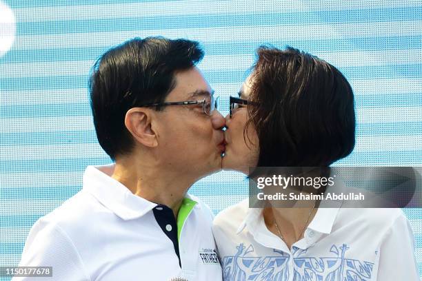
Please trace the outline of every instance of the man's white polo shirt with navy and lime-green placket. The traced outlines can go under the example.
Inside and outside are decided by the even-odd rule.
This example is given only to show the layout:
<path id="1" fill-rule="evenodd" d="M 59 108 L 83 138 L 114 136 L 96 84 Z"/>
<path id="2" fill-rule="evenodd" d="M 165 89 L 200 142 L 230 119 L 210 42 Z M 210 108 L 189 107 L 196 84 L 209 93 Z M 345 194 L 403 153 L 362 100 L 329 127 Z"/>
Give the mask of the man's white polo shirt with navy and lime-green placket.
<path id="1" fill-rule="evenodd" d="M 88 167 L 83 189 L 40 218 L 23 249 L 19 266 L 52 267 L 52 278 L 13 280 L 221 280 L 212 218 L 186 196 L 176 221 L 170 208 Z"/>

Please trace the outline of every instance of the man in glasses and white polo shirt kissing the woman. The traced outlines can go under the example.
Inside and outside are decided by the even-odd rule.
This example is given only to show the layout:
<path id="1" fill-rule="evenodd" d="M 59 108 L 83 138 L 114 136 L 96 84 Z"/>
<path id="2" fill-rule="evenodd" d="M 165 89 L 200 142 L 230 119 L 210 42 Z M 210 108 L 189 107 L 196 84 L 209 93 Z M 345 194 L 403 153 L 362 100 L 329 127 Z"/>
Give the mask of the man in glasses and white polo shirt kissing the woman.
<path id="1" fill-rule="evenodd" d="M 161 37 L 101 56 L 91 107 L 114 169 L 86 169 L 83 189 L 32 227 L 20 266 L 51 266 L 46 280 L 221 280 L 212 213 L 186 194 L 224 150 L 202 57 L 197 42 Z"/>

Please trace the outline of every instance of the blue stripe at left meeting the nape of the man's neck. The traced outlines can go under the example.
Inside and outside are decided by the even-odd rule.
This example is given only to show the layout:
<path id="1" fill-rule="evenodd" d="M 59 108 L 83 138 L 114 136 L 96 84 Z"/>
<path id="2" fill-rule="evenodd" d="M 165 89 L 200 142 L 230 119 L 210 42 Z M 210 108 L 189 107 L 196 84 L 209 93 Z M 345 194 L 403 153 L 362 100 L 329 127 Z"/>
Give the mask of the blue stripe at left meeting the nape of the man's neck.
<path id="1" fill-rule="evenodd" d="M 32 173 L 43 171 L 85 171 L 89 165 L 111 164 L 110 158 L 57 158 L 41 160 L 1 161 L 0 173 Z"/>

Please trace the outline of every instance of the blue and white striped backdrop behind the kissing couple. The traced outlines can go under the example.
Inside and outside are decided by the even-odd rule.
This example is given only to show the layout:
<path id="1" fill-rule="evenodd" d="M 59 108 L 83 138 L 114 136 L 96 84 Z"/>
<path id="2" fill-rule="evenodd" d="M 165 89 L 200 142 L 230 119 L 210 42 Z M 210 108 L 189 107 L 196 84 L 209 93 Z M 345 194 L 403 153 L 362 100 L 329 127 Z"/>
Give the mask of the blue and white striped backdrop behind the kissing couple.
<path id="1" fill-rule="evenodd" d="M 17 34 L 0 58 L 0 266 L 19 262 L 32 224 L 81 189 L 87 165 L 110 163 L 92 125 L 88 72 L 132 37 L 200 41 L 199 67 L 223 114 L 261 43 L 316 54 L 339 67 L 356 95 L 356 148 L 339 164 L 422 165 L 420 0 L 3 2 Z M 191 189 L 215 212 L 246 190 L 244 177 L 229 172 Z M 422 211 L 405 214 L 422 272 Z"/>

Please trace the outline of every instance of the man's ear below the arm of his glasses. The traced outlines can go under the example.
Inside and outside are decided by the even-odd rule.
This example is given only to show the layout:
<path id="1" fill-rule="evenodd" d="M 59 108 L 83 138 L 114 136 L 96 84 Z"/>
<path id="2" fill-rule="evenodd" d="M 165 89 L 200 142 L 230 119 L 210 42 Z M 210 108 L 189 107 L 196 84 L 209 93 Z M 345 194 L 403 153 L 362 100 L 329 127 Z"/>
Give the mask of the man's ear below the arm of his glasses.
<path id="1" fill-rule="evenodd" d="M 146 147 L 157 147 L 157 132 L 152 129 L 152 111 L 145 107 L 132 107 L 125 115 L 125 126 L 132 137 Z"/>

